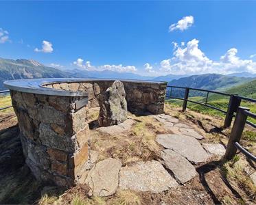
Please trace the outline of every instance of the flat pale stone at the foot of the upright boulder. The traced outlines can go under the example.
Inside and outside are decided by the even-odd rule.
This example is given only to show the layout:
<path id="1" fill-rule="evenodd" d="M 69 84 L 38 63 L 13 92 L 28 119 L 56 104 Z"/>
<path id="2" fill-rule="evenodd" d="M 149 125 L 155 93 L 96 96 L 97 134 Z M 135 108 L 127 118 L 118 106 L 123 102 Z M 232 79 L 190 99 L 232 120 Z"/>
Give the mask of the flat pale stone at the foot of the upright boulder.
<path id="1" fill-rule="evenodd" d="M 128 119 L 118 125 L 102 126 L 100 128 L 97 128 L 97 131 L 100 131 L 101 133 L 107 133 L 108 135 L 115 135 L 118 133 L 130 131 L 130 129 L 132 128 L 132 124 L 134 123 L 134 120 Z"/>

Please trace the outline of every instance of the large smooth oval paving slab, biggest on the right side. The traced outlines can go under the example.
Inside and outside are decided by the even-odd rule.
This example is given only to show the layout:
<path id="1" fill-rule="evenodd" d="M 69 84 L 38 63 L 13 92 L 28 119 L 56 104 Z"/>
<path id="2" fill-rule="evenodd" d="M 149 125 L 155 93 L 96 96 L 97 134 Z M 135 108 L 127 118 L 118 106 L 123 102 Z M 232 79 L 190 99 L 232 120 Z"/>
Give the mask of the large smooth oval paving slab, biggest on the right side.
<path id="1" fill-rule="evenodd" d="M 207 161 L 209 155 L 202 148 L 200 143 L 194 138 L 186 135 L 157 135 L 156 141 L 167 149 L 184 156 L 192 163 L 202 163 Z"/>

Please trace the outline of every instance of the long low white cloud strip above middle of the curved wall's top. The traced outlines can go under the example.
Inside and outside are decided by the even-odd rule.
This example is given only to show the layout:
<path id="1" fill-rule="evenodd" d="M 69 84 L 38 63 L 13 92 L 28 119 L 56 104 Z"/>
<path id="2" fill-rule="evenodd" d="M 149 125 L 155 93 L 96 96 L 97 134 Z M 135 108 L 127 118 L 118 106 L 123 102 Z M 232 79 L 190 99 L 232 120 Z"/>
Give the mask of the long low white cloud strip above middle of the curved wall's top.
<path id="1" fill-rule="evenodd" d="M 78 58 L 76 61 L 73 61 L 73 65 L 78 66 L 80 68 L 84 68 L 86 70 L 111 70 L 117 72 L 136 72 L 137 68 L 135 66 L 123 66 L 122 64 L 119 65 L 102 65 L 102 66 L 92 66 L 90 61 L 86 61 L 84 64 L 84 60 Z"/>

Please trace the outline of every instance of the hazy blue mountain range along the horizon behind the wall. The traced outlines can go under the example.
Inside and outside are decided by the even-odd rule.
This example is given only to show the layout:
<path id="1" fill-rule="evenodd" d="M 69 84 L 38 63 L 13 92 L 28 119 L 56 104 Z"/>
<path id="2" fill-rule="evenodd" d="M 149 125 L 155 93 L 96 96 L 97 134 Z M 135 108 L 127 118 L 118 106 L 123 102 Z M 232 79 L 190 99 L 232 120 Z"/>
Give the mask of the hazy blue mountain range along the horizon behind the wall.
<path id="1" fill-rule="evenodd" d="M 150 81 L 167 81 L 168 85 L 181 87 L 196 87 L 207 90 L 222 90 L 235 85 L 241 85 L 252 81 L 256 74 L 248 72 L 223 74 L 198 74 L 189 76 L 187 74 L 175 75 L 167 74 L 160 77 L 146 77 L 132 72 L 114 72 L 111 70 L 58 70 L 40 64 L 35 60 L 28 59 L 3 59 L 0 58 L 0 90 L 5 90 L 3 81 L 12 79 L 30 78 L 65 78 L 65 77 L 89 77 L 105 79 L 139 79 Z"/>

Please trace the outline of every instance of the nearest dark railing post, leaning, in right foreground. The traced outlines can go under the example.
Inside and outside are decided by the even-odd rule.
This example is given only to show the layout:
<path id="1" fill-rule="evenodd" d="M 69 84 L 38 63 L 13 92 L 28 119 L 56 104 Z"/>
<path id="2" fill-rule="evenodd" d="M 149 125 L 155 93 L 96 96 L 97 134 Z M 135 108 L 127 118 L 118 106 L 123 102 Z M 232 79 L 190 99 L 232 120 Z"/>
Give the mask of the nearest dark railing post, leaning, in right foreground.
<path id="1" fill-rule="evenodd" d="M 243 113 L 244 110 L 250 110 L 246 107 L 238 107 L 237 115 L 235 116 L 235 122 L 231 131 L 231 135 L 229 137 L 228 145 L 226 146 L 226 153 L 224 155 L 225 160 L 231 160 L 235 156 L 237 152 L 237 148 L 235 147 L 235 142 L 239 142 L 242 133 L 244 131 L 244 126 L 246 124 L 247 115 Z"/>

